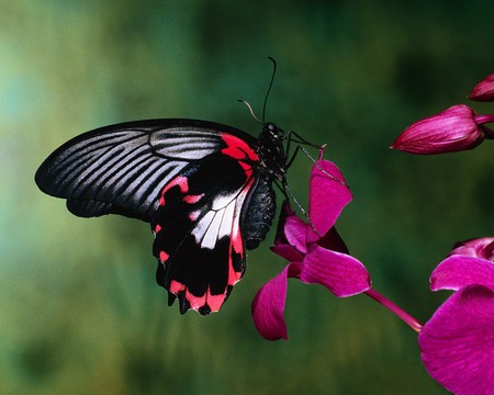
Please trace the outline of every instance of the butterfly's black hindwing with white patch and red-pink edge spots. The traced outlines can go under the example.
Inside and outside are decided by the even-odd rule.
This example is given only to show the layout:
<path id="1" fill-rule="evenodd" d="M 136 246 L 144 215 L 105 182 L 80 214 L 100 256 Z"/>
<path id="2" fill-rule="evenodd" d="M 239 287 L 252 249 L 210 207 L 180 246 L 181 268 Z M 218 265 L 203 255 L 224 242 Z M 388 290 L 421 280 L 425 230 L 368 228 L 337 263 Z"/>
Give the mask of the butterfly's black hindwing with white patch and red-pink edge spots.
<path id="1" fill-rule="evenodd" d="M 161 193 L 151 221 L 157 280 L 178 296 L 182 313 L 217 312 L 244 274 L 240 215 L 256 179 L 242 163 L 213 154 L 184 169 Z"/>

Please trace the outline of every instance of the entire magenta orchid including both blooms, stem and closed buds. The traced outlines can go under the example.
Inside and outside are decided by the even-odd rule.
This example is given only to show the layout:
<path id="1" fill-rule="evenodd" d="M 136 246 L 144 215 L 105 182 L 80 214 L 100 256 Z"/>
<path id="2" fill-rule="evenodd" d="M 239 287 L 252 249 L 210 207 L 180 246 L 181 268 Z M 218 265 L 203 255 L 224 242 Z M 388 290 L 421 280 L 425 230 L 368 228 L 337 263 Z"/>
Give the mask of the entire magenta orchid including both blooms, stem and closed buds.
<path id="1" fill-rule="evenodd" d="M 494 101 L 494 75 L 469 97 Z M 478 146 L 494 132 L 494 115 L 453 105 L 407 127 L 392 148 L 413 154 L 442 154 Z M 366 267 L 348 252 L 335 229 L 351 193 L 339 169 L 317 160 L 312 169 L 308 215 L 302 221 L 285 203 L 271 250 L 287 259 L 252 302 L 252 318 L 268 340 L 288 339 L 284 320 L 288 279 L 324 285 L 337 297 L 364 293 L 418 332 L 422 361 L 433 379 L 458 395 L 494 395 L 494 237 L 454 246 L 430 276 L 431 291 L 452 290 L 424 325 L 371 287 Z"/>

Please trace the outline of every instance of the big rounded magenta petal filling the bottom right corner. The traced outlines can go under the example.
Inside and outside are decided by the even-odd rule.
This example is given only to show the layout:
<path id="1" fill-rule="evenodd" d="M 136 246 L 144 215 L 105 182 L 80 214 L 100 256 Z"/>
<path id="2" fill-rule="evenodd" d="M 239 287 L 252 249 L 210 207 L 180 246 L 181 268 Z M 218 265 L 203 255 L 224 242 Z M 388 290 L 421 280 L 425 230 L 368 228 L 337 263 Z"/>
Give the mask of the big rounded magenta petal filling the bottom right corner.
<path id="1" fill-rule="evenodd" d="M 471 285 L 450 296 L 418 335 L 429 374 L 454 394 L 494 394 L 494 293 Z"/>

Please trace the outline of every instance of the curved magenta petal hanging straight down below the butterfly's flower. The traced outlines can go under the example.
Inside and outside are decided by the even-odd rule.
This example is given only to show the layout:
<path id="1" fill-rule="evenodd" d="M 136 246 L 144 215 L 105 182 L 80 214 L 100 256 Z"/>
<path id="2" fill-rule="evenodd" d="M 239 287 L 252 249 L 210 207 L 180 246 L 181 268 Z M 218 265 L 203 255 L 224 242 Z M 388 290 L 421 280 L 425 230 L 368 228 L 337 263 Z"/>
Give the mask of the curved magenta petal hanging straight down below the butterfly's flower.
<path id="1" fill-rule="evenodd" d="M 290 263 L 277 276 L 260 287 L 252 301 L 252 319 L 256 329 L 267 340 L 288 340 L 283 312 L 289 276 L 297 276 L 301 263 Z"/>

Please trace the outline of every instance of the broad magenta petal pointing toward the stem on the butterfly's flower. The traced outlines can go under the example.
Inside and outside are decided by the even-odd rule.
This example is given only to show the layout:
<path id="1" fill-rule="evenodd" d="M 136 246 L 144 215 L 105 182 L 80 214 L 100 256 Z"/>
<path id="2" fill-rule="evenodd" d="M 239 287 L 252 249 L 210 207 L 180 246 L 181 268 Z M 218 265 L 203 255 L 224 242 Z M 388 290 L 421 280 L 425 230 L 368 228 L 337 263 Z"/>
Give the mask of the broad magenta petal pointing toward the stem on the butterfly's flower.
<path id="1" fill-rule="evenodd" d="M 310 247 L 300 280 L 322 284 L 338 297 L 356 295 L 371 286 L 369 272 L 359 260 L 317 245 Z"/>

